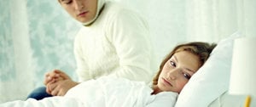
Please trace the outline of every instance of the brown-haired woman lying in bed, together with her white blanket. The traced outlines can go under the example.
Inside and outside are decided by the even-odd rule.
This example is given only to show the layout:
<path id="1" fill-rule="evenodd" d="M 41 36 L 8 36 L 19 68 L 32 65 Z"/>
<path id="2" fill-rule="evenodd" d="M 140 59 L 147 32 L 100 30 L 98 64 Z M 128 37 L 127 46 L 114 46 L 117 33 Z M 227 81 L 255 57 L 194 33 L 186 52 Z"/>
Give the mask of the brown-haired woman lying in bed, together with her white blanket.
<path id="1" fill-rule="evenodd" d="M 160 70 L 148 86 L 125 78 L 103 76 L 82 82 L 70 89 L 64 97 L 27 99 L 0 104 L 14 106 L 77 106 L 77 107 L 170 107 L 189 78 L 206 62 L 215 44 L 189 42 L 178 45 L 167 54 Z"/>

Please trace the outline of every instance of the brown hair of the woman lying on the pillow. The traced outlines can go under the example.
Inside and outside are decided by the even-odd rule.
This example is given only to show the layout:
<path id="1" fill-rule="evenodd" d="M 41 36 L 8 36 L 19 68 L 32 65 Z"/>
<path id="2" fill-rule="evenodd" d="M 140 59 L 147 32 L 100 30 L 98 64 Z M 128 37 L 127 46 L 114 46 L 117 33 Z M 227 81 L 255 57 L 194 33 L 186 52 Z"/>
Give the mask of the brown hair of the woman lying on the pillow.
<path id="1" fill-rule="evenodd" d="M 189 53 L 194 53 L 200 59 L 201 65 L 203 65 L 212 53 L 212 49 L 216 47 L 217 44 L 212 43 L 209 44 L 207 42 L 188 42 L 184 44 L 177 45 L 177 47 L 173 48 L 172 52 L 166 55 L 166 58 L 160 64 L 160 69 L 158 70 L 156 76 L 153 79 L 153 85 L 157 85 L 158 78 L 160 76 L 160 72 L 162 71 L 166 62 L 171 59 L 174 53 L 180 51 L 188 51 Z"/>

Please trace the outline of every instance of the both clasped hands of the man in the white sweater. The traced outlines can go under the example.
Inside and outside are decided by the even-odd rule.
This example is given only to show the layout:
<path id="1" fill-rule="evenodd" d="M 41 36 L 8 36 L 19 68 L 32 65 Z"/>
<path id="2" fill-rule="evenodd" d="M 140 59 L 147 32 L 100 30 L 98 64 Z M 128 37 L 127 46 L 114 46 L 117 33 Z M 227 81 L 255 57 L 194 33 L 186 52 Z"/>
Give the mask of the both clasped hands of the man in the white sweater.
<path id="1" fill-rule="evenodd" d="M 64 96 L 70 88 L 78 84 L 61 70 L 52 70 L 46 73 L 44 78 L 46 93 L 53 96 Z"/>

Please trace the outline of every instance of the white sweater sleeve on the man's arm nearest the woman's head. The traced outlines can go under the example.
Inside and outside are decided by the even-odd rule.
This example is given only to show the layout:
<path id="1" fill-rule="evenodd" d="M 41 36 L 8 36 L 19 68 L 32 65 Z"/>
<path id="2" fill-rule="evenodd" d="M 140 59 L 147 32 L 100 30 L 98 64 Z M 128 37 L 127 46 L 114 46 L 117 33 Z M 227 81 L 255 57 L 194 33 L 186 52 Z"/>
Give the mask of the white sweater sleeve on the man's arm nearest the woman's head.
<path id="1" fill-rule="evenodd" d="M 119 56 L 119 68 L 111 76 L 149 82 L 156 65 L 148 24 L 133 11 L 123 9 L 108 21 L 107 35 Z"/>

